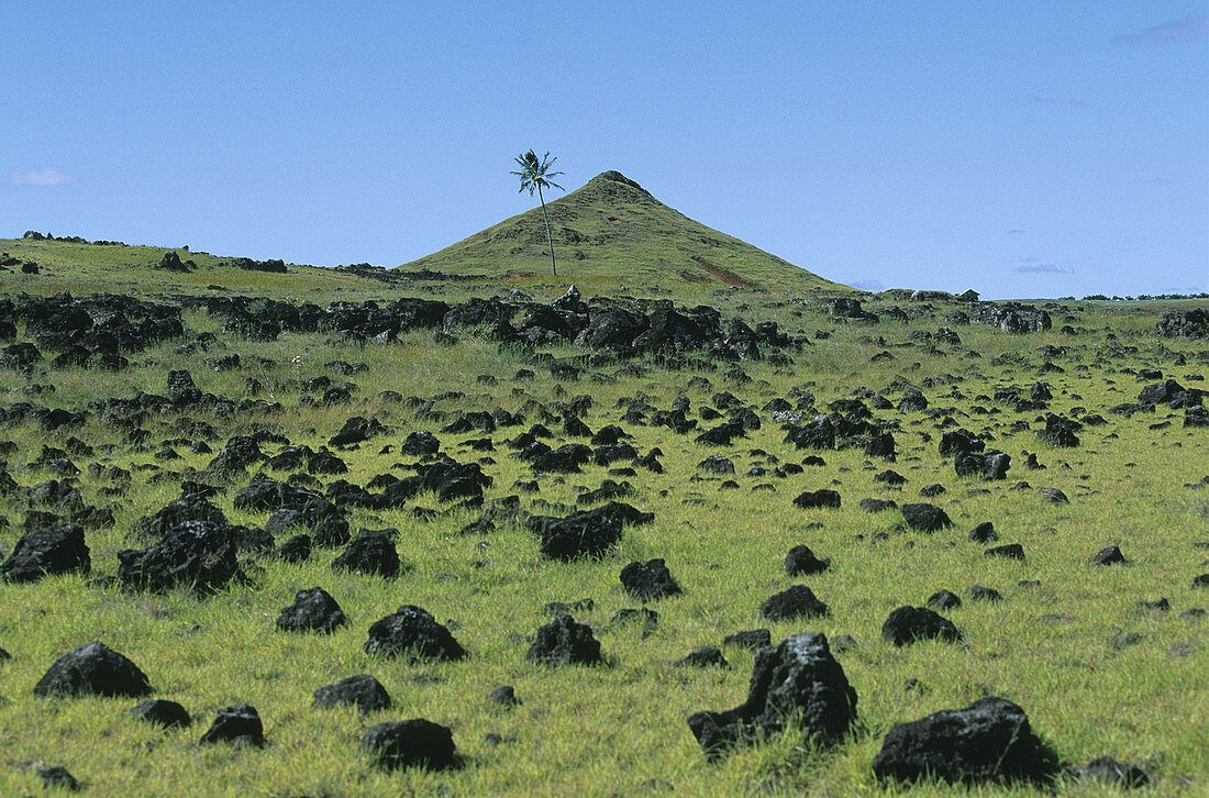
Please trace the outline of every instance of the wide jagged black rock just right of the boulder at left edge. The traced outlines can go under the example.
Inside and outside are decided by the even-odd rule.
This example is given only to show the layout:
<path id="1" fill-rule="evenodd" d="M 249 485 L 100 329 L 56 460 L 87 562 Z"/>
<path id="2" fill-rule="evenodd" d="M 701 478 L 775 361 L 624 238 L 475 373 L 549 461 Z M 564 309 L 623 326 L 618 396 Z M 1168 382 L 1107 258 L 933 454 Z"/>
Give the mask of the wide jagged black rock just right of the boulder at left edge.
<path id="1" fill-rule="evenodd" d="M 186 521 L 147 549 L 118 551 L 117 582 L 128 590 L 214 592 L 241 573 L 230 528 Z"/>

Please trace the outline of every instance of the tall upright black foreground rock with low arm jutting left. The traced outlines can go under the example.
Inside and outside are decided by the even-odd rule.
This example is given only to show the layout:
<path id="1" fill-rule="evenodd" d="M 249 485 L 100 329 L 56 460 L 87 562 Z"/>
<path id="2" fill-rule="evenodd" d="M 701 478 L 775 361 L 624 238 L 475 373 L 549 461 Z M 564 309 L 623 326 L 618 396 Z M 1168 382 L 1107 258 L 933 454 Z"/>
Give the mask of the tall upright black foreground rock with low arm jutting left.
<path id="1" fill-rule="evenodd" d="M 805 740 L 831 745 L 856 721 L 856 690 L 820 632 L 793 635 L 756 655 L 747 700 L 724 712 L 698 712 L 689 729 L 707 758 L 739 744 L 802 729 Z"/>

